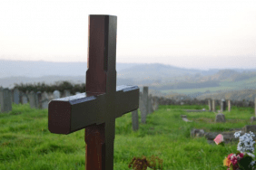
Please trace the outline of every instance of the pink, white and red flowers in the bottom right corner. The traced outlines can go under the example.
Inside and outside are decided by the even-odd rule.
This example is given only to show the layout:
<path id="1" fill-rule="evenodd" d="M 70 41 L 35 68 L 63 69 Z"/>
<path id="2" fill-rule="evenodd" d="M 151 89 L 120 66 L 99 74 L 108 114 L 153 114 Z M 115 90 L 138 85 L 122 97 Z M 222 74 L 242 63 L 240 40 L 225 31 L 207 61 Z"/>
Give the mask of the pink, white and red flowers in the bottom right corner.
<path id="1" fill-rule="evenodd" d="M 235 132 L 234 137 L 239 137 L 239 143 L 237 146 L 238 152 L 236 154 L 231 153 L 229 156 L 225 157 L 223 160 L 223 165 L 228 167 L 227 170 L 255 170 L 255 156 L 254 153 L 254 143 L 252 137 L 255 135 L 250 132 L 245 133 L 241 136 L 241 131 Z M 222 134 L 219 134 L 217 137 L 214 138 L 214 142 L 217 145 L 224 146 L 224 139 Z"/>

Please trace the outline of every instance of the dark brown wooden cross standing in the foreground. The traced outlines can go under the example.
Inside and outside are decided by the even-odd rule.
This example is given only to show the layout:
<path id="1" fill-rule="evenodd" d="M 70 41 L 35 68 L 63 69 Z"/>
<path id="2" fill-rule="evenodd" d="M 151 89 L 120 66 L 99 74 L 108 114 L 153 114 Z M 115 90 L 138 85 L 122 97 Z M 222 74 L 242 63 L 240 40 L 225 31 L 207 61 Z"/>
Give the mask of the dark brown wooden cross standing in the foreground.
<path id="1" fill-rule="evenodd" d="M 51 133 L 85 128 L 86 170 L 113 170 L 115 118 L 139 108 L 138 86 L 116 87 L 116 28 L 117 16 L 89 15 L 85 93 L 48 105 Z"/>

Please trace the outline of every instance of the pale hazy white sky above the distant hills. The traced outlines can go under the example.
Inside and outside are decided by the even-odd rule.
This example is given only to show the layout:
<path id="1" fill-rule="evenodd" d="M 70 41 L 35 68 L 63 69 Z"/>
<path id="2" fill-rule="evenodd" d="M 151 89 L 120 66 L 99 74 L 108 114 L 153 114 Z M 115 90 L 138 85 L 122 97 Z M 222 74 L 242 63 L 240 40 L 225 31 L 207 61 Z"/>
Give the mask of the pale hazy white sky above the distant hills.
<path id="1" fill-rule="evenodd" d="M 0 60 L 87 61 L 89 14 L 117 15 L 117 62 L 256 68 L 256 0 L 0 0 Z"/>

